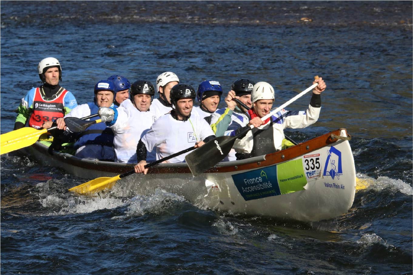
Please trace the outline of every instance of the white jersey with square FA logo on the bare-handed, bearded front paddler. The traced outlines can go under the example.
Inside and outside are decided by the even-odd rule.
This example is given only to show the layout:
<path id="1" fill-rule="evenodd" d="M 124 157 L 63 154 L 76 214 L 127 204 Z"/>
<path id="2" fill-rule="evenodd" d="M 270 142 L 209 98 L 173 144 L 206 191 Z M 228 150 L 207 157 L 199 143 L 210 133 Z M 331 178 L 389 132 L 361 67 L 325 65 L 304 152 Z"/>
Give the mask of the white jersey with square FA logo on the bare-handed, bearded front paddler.
<path id="1" fill-rule="evenodd" d="M 167 114 L 154 122 L 149 132 L 142 137 L 142 142 L 148 151 L 152 150 L 151 148 L 154 150 L 156 147 L 156 159 L 160 160 L 195 146 L 195 142 L 213 135 L 214 132 L 209 124 L 199 116 L 191 115 L 187 121 L 180 121 Z M 165 162 L 184 162 L 185 155 L 188 153 L 173 157 Z"/>

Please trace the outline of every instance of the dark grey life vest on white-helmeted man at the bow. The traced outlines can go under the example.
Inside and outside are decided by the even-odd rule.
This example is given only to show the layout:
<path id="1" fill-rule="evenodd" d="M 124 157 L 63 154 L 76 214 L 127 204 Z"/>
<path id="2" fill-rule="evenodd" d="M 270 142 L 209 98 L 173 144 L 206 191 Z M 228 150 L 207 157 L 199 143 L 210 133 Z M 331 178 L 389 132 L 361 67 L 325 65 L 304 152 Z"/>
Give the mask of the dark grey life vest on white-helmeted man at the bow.
<path id="1" fill-rule="evenodd" d="M 273 129 L 273 118 L 269 118 L 268 129 L 258 129 L 253 128 L 252 131 L 252 150 L 249 154 L 237 153 L 238 160 L 244 160 L 249 157 L 258 157 L 261 155 L 267 155 L 277 152 L 274 146 L 274 129 Z"/>

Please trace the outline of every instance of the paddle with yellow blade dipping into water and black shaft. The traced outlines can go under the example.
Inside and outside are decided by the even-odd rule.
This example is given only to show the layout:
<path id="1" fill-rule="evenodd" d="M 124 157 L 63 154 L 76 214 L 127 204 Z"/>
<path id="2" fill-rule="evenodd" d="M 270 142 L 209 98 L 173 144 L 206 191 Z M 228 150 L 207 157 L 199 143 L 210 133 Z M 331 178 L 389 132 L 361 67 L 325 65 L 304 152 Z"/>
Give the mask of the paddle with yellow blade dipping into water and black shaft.
<path id="1" fill-rule="evenodd" d="M 178 155 L 182 155 L 183 153 L 187 153 L 187 152 L 192 151 L 194 149 L 195 149 L 195 147 L 192 146 L 192 147 L 187 148 L 185 150 L 182 150 L 178 153 L 175 153 L 175 154 L 169 155 L 167 157 L 161 158 L 160 160 L 150 162 L 147 165 L 145 165 L 145 168 L 152 167 L 152 166 L 157 165 L 157 164 L 159 164 L 159 163 L 161 163 L 165 160 L 169 160 L 173 157 L 176 157 Z M 120 179 L 122 179 L 126 176 L 129 176 L 133 173 L 135 173 L 135 169 L 133 169 L 131 171 L 128 171 L 126 173 L 114 176 L 112 178 L 100 177 L 100 178 L 93 179 L 91 181 L 82 183 L 81 185 L 72 187 L 72 188 L 69 189 L 69 191 L 74 192 L 74 193 L 78 193 L 79 195 L 90 195 L 90 194 L 102 191 L 104 189 L 112 188 L 115 185 L 116 181 L 118 181 L 118 180 L 120 180 Z"/>

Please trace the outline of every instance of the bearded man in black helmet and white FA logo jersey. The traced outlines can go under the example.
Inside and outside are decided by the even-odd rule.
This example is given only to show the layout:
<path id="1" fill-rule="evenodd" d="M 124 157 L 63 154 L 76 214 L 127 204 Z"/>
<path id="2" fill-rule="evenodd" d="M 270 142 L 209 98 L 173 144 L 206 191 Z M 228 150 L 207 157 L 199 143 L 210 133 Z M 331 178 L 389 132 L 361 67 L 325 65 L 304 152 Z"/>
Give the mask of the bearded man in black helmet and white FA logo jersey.
<path id="1" fill-rule="evenodd" d="M 195 89 L 190 85 L 177 84 L 172 87 L 172 111 L 158 118 L 138 143 L 136 154 L 139 162 L 135 165 L 136 173 L 147 173 L 148 169 L 144 167 L 147 164 L 147 152 L 154 148 L 156 159 L 160 160 L 190 146 L 198 148 L 215 138 L 214 132 L 203 118 L 191 115 L 195 97 Z M 186 154 L 173 157 L 167 162 L 184 162 Z"/>

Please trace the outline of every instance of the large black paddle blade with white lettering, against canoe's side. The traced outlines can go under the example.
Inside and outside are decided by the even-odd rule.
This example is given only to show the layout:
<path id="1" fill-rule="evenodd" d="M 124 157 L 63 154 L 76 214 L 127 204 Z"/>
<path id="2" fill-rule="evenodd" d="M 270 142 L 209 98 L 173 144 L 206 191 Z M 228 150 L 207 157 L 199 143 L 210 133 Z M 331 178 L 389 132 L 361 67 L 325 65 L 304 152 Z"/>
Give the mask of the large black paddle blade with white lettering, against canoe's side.
<path id="1" fill-rule="evenodd" d="M 218 136 L 185 156 L 192 175 L 198 176 L 224 159 L 237 136 Z"/>

